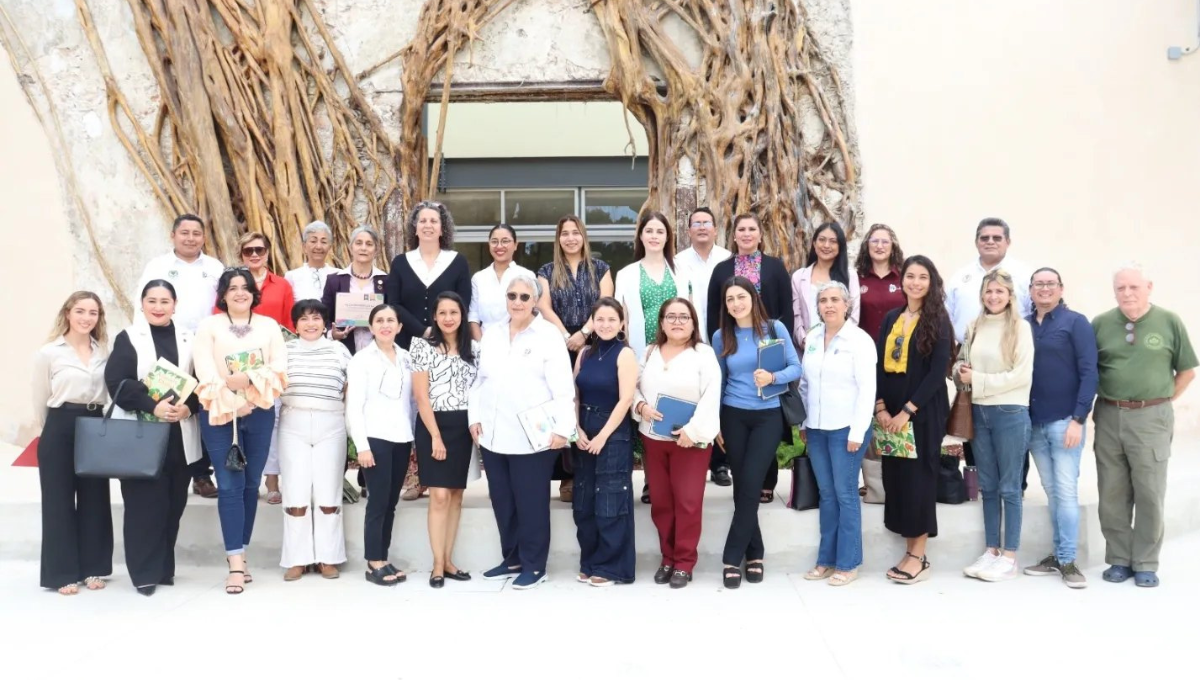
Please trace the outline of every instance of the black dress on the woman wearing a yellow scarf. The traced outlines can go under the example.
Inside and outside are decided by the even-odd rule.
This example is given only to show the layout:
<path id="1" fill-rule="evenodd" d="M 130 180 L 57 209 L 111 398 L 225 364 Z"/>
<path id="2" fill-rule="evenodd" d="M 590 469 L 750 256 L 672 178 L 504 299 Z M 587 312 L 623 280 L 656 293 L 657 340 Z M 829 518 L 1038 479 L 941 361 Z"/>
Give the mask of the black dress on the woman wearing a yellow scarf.
<path id="1" fill-rule="evenodd" d="M 907 401 L 902 373 L 884 373 L 880 395 L 888 413 L 899 413 Z M 937 536 L 937 467 L 946 426 L 924 419 L 913 421 L 916 458 L 883 458 L 883 525 L 905 538 Z"/>

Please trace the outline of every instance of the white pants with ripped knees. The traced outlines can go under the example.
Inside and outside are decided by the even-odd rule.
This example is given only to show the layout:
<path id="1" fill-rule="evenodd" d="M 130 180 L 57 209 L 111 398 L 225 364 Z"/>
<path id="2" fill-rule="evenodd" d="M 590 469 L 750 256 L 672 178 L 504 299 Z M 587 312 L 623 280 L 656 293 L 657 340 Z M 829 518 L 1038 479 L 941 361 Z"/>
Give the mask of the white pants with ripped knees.
<path id="1" fill-rule="evenodd" d="M 346 414 L 284 407 L 280 417 L 280 492 L 283 556 L 288 568 L 346 561 L 342 482 L 346 479 Z M 300 517 L 289 507 L 304 507 Z M 325 513 L 322 507 L 336 507 Z"/>

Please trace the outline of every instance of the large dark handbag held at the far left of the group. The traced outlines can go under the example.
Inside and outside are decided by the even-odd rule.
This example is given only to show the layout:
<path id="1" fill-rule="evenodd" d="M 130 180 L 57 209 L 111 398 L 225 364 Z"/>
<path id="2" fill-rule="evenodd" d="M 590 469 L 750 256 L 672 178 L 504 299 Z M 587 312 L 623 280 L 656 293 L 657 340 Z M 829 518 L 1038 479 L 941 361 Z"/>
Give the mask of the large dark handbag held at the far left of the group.
<path id="1" fill-rule="evenodd" d="M 162 474 L 170 439 L 169 422 L 113 420 L 121 380 L 104 417 L 76 419 L 74 464 L 80 477 L 155 480 Z"/>

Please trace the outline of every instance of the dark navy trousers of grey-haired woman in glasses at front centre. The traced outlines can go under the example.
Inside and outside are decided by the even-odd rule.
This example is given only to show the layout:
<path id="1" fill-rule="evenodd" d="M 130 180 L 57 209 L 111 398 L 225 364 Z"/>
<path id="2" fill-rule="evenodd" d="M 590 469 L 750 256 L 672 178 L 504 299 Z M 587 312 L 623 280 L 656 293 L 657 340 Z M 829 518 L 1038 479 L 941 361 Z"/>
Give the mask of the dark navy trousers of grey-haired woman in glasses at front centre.
<path id="1" fill-rule="evenodd" d="M 568 450 L 570 451 L 570 450 Z M 496 453 L 480 447 L 496 528 L 500 532 L 502 564 L 521 571 L 546 571 L 550 554 L 550 475 L 559 450 L 538 453 Z"/>

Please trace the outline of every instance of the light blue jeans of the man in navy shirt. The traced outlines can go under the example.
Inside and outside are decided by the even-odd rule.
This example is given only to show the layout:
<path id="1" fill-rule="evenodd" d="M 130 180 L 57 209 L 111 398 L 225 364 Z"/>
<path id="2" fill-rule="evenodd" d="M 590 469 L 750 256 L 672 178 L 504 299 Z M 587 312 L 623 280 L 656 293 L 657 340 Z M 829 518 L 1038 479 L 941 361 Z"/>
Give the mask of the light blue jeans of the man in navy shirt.
<path id="1" fill-rule="evenodd" d="M 1033 426 L 1030 452 L 1038 467 L 1042 488 L 1050 500 L 1050 525 L 1054 528 L 1054 556 L 1060 564 L 1075 561 L 1079 540 L 1079 461 L 1087 440 L 1087 426 L 1079 445 L 1062 445 L 1070 419 Z"/>

